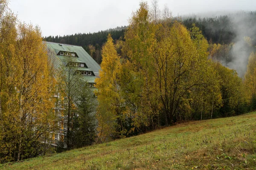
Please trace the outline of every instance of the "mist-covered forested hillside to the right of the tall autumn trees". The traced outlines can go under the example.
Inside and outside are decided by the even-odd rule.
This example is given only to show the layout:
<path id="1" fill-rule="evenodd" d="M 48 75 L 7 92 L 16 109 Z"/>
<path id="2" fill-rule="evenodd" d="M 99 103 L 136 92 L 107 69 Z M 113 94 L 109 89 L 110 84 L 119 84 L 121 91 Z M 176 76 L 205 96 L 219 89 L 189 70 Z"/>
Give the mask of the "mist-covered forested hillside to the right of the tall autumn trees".
<path id="1" fill-rule="evenodd" d="M 245 74 L 248 57 L 256 45 L 256 13 L 240 11 L 233 14 L 215 17 L 186 17 L 183 23 L 191 28 L 192 23 L 198 26 L 210 44 L 228 45 L 215 59 L 223 65 L 235 69 L 239 76 Z M 246 37 L 250 37 L 248 42 Z"/>

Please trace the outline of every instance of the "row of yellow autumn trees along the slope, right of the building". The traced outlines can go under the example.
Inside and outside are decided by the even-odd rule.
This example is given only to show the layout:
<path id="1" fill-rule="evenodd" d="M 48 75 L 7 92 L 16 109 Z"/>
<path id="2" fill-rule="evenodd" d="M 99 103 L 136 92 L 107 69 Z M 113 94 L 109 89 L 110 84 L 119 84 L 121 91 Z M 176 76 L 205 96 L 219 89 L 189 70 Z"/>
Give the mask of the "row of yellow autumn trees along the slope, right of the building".
<path id="1" fill-rule="evenodd" d="M 125 31 L 121 54 L 111 35 L 103 45 L 102 71 L 96 79 L 99 142 L 182 121 L 235 116 L 255 107 L 255 67 L 249 68 L 254 53 L 250 76 L 241 79 L 212 59 L 216 51 L 209 51 L 212 45 L 195 23 L 188 29 L 173 20 L 168 8 L 161 15 L 154 11 L 140 3 Z"/>

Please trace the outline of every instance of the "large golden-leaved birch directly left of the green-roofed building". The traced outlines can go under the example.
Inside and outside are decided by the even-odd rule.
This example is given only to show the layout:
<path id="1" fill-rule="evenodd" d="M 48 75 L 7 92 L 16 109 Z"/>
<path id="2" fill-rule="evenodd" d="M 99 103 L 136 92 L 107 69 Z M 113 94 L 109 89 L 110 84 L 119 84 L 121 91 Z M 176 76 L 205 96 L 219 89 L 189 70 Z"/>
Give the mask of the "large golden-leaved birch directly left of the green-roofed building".
<path id="1" fill-rule="evenodd" d="M 14 29 L 14 28 L 13 28 Z M 52 130 L 52 79 L 41 31 L 32 25 L 17 26 L 13 53 L 5 55 L 8 87 L 2 91 L 4 109 L 0 115 L 2 161 L 22 160 L 42 153 Z M 11 48 L 12 47 L 12 48 Z"/>

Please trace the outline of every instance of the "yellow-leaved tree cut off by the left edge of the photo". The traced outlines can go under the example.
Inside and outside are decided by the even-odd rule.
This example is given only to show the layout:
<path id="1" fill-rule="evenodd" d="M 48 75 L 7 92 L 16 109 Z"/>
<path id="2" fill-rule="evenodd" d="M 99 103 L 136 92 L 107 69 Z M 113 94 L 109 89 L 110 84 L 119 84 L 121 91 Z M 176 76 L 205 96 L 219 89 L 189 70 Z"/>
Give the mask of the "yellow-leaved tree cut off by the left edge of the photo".
<path id="1" fill-rule="evenodd" d="M 13 86 L 8 80 L 14 79 L 15 44 L 17 37 L 17 18 L 8 8 L 7 0 L 0 0 L 0 162 L 15 160 L 17 140 L 14 133 L 6 129 L 11 126 L 5 117 L 9 111 L 8 101 L 13 96 Z M 17 142 L 17 141 L 16 141 Z M 17 155 L 16 155 L 17 157 Z"/>

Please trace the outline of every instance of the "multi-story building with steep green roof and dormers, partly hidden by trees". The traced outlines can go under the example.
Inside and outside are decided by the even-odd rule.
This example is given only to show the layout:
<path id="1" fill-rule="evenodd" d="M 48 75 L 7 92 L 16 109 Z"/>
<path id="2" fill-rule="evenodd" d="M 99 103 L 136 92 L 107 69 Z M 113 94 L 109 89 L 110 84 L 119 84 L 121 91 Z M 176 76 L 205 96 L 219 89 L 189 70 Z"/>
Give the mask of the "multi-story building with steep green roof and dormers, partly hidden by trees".
<path id="1" fill-rule="evenodd" d="M 101 69 L 99 64 L 81 47 L 77 45 L 68 45 L 55 42 L 45 42 L 47 45 L 47 53 L 52 61 L 55 70 L 60 68 L 72 68 L 73 74 L 79 77 L 88 85 L 94 88 L 95 79 L 99 76 Z M 63 141 L 65 131 L 67 130 L 67 121 L 64 117 L 65 105 L 67 105 L 66 96 L 61 96 L 56 86 L 56 91 L 52 96 L 57 102 L 53 111 L 61 118 L 58 122 L 59 130 L 52 132 L 52 145 L 55 141 Z"/>

